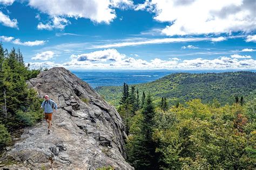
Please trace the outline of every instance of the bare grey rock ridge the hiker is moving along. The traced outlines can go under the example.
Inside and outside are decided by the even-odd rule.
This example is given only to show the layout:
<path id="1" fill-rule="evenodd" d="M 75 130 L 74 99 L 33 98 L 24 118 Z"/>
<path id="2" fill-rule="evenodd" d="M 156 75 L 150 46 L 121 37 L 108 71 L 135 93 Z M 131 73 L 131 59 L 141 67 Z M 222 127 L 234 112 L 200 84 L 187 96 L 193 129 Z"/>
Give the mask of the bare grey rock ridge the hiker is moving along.
<path id="1" fill-rule="evenodd" d="M 86 82 L 62 67 L 41 72 L 27 82 L 39 97 L 48 94 L 58 104 L 53 112 L 51 133 L 42 121 L 26 128 L 6 154 L 16 160 L 6 168 L 134 169 L 124 159 L 122 120 Z"/>

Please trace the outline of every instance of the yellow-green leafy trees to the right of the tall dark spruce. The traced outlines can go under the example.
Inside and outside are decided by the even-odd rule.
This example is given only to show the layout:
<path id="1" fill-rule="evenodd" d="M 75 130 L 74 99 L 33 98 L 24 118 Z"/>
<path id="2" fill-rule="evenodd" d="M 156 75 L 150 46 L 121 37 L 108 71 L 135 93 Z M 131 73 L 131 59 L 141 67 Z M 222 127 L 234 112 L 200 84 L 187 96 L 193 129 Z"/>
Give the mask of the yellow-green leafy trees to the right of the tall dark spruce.
<path id="1" fill-rule="evenodd" d="M 240 104 L 215 107 L 192 100 L 167 112 L 157 110 L 153 138 L 159 145 L 161 168 L 255 167 L 255 129 L 246 129 L 250 125 L 246 115 L 255 112 L 252 105 L 255 101 L 246 108 Z"/>

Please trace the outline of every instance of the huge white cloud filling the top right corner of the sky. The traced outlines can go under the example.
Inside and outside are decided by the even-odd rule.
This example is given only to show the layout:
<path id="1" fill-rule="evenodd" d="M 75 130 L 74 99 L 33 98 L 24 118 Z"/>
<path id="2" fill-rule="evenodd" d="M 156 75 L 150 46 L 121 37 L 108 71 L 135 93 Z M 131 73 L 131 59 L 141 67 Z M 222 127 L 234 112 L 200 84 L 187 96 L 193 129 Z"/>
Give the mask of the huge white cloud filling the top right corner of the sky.
<path id="1" fill-rule="evenodd" d="M 246 0 L 152 0 L 136 10 L 156 13 L 154 19 L 170 23 L 162 32 L 174 36 L 254 31 L 255 8 L 255 1 Z"/>

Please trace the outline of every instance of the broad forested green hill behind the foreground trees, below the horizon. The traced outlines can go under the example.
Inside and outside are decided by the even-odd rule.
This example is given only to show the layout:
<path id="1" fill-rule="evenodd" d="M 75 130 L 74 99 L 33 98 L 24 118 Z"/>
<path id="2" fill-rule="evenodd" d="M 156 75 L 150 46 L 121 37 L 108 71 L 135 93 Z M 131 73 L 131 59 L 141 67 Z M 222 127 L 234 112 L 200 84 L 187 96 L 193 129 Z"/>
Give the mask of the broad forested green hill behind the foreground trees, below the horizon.
<path id="1" fill-rule="evenodd" d="M 131 84 L 129 84 L 131 86 Z M 235 96 L 244 100 L 256 96 L 256 73 L 224 72 L 224 73 L 174 73 L 156 81 L 134 85 L 139 90 L 151 93 L 156 100 L 166 97 L 170 104 L 200 98 L 203 103 L 216 98 L 220 104 L 233 103 Z M 106 101 L 117 106 L 122 94 L 122 86 L 101 86 L 95 90 Z"/>

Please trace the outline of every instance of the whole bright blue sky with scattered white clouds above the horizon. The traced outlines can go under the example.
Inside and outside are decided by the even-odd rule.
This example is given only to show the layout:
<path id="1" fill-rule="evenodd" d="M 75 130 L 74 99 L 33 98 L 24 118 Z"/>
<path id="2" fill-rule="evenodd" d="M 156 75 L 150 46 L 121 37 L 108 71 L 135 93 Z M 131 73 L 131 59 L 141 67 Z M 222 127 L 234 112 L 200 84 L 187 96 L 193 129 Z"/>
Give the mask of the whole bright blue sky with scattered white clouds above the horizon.
<path id="1" fill-rule="evenodd" d="M 255 70 L 255 0 L 0 0 L 30 68 Z"/>

